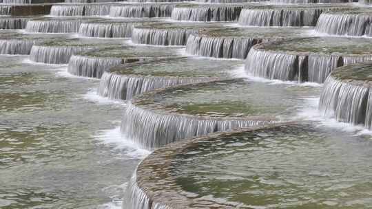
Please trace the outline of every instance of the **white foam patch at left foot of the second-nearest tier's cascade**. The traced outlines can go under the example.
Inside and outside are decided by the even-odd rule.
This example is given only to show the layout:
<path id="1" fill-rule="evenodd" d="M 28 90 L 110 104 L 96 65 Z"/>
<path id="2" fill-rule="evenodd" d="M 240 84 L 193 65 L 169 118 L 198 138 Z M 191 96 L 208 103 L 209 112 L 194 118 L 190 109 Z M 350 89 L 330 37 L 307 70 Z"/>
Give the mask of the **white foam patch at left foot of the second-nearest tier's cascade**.
<path id="1" fill-rule="evenodd" d="M 97 140 L 100 140 L 102 144 L 112 146 L 114 150 L 120 151 L 116 152 L 118 155 L 143 159 L 151 153 L 150 151 L 138 146 L 138 144 L 123 137 L 120 131 L 120 126 L 117 126 L 115 129 L 98 131 L 94 137 L 96 137 Z"/>

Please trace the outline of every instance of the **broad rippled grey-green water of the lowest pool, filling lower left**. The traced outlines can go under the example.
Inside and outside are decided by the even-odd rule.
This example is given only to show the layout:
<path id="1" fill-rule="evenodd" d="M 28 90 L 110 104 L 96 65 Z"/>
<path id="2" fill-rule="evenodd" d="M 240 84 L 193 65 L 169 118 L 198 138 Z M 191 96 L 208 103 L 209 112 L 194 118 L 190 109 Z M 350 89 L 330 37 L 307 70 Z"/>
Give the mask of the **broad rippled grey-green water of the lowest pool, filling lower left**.
<path id="1" fill-rule="evenodd" d="M 0 208 L 120 206 L 139 160 L 105 135 L 120 137 L 124 104 L 87 100 L 99 80 L 26 58 L 0 56 Z"/>

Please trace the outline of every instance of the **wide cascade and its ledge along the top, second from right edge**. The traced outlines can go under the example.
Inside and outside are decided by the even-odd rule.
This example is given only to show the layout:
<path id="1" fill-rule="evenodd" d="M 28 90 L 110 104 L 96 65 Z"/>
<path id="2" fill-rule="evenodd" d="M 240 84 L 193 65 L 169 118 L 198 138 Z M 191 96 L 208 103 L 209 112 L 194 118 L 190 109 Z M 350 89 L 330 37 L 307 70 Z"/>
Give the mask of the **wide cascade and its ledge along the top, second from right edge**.
<path id="1" fill-rule="evenodd" d="M 322 12 L 340 8 L 352 8 L 352 5 L 262 5 L 243 9 L 238 23 L 266 27 L 315 26 Z"/>

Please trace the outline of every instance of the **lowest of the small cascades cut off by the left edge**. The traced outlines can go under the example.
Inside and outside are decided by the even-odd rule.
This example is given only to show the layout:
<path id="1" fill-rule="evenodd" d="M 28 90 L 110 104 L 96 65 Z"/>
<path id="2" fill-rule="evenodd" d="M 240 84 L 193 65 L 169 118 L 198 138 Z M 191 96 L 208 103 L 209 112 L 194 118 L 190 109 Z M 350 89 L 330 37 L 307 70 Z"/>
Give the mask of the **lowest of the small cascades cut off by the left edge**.
<path id="1" fill-rule="evenodd" d="M 30 54 L 34 43 L 27 39 L 0 40 L 0 54 Z"/>

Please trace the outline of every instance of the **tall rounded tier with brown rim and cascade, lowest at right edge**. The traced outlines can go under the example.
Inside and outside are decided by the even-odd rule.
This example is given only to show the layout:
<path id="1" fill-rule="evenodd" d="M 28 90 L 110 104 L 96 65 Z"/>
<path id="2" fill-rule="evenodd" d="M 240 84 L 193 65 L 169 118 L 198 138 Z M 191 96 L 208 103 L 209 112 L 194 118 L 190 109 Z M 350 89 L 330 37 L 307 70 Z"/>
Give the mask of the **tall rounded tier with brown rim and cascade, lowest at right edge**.
<path id="1" fill-rule="evenodd" d="M 324 83 L 319 109 L 340 122 L 372 128 L 372 63 L 336 69 Z"/>

